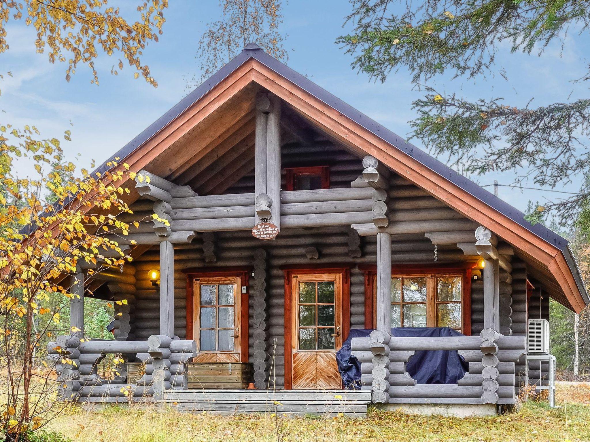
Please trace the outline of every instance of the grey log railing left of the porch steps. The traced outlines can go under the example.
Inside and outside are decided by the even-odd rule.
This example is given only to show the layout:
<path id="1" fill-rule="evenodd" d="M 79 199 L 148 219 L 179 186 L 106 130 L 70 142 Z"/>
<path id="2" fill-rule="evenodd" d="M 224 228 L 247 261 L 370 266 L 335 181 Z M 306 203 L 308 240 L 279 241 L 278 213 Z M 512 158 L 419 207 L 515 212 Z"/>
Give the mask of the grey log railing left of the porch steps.
<path id="1" fill-rule="evenodd" d="M 59 395 L 63 400 L 78 402 L 158 400 L 165 390 L 186 390 L 186 362 L 196 355 L 192 340 L 173 340 L 168 336 L 152 335 L 147 341 L 107 341 L 80 339 L 72 335 L 57 338 L 48 344 L 50 359 L 57 363 L 60 381 Z M 124 364 L 113 379 L 104 379 L 98 365 L 106 354 L 120 355 L 124 361 L 141 361 L 145 375 L 135 383 L 127 382 Z"/>

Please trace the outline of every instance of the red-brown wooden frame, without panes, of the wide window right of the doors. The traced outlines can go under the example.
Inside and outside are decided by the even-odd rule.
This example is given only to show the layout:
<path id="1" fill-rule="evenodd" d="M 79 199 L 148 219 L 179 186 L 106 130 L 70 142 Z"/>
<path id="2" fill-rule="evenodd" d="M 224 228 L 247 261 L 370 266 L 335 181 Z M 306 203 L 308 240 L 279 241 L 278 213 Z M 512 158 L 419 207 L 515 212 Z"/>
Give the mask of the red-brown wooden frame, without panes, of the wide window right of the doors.
<path id="1" fill-rule="evenodd" d="M 461 281 L 461 333 L 471 335 L 471 271 L 476 266 L 468 263 L 465 266 L 431 266 L 431 265 L 394 265 L 391 270 L 392 278 L 428 278 L 427 279 L 427 326 L 436 325 L 438 304 L 453 304 L 453 302 L 439 302 L 436 297 L 436 281 L 442 276 L 462 276 Z M 376 324 L 376 266 L 359 265 L 365 272 L 365 328 L 375 328 Z M 424 304 L 403 303 L 403 304 Z M 402 303 L 399 305 L 402 306 Z M 456 303 L 458 304 L 458 303 Z M 402 308 L 402 307 L 400 307 Z M 403 324 L 401 324 L 403 325 Z"/>

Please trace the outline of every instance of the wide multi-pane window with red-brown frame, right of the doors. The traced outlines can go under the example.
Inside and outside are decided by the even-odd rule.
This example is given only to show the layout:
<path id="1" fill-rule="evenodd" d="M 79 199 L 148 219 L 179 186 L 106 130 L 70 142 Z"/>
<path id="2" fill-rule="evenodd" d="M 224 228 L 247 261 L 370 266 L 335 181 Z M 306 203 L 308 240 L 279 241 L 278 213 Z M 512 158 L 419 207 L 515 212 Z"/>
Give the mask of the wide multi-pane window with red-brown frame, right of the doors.
<path id="1" fill-rule="evenodd" d="M 366 270 L 368 328 L 375 324 L 376 272 Z M 471 334 L 471 269 L 399 269 L 391 277 L 392 327 L 450 327 Z M 370 314 L 370 317 L 369 317 Z"/>

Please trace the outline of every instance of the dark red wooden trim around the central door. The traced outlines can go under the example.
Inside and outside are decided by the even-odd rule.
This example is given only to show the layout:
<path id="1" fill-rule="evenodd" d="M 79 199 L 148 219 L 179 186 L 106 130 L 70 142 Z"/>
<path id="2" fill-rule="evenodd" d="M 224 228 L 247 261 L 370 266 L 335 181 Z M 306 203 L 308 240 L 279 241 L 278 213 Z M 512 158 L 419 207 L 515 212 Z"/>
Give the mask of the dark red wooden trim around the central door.
<path id="1" fill-rule="evenodd" d="M 350 332 L 350 265 L 344 267 L 321 265 L 303 266 L 289 265 L 281 266 L 284 271 L 284 290 L 285 290 L 285 315 L 284 315 L 284 382 L 285 390 L 291 390 L 293 387 L 293 287 L 291 279 L 293 275 L 319 275 L 321 273 L 340 273 L 342 275 L 342 329 L 343 340 L 348 338 Z"/>

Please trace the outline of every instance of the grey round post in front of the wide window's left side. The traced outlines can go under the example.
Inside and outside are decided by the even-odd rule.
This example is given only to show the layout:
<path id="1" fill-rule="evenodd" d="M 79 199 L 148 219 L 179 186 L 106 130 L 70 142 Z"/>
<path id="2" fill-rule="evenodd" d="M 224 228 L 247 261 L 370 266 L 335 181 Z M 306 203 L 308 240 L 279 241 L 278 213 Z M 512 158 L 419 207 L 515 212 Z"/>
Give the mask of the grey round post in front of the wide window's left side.
<path id="1" fill-rule="evenodd" d="M 391 235 L 377 233 L 377 329 L 391 333 Z"/>

